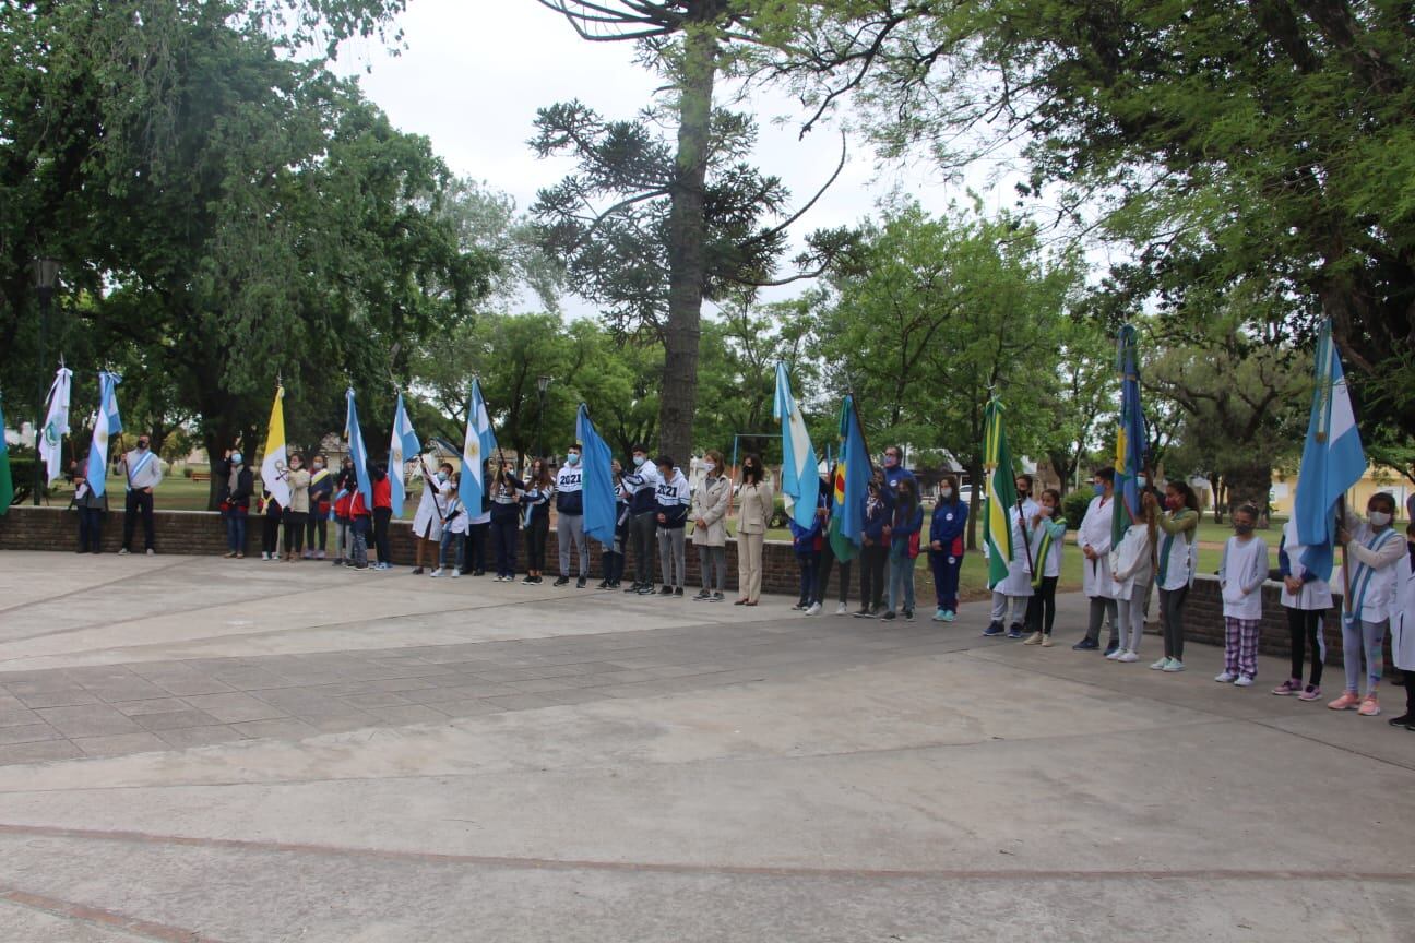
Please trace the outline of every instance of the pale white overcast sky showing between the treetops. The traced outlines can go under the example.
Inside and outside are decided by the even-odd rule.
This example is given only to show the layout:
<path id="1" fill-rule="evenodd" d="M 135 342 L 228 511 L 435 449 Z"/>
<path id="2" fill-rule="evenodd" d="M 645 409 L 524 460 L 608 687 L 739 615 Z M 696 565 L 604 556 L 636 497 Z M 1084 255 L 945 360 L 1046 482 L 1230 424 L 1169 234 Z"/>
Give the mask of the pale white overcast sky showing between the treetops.
<path id="1" fill-rule="evenodd" d="M 406 41 L 400 55 L 378 41 L 355 41 L 345 44 L 341 68 L 359 75 L 365 93 L 398 127 L 426 134 L 457 174 L 511 194 L 522 211 L 538 188 L 570 170 L 567 160 L 536 160 L 526 147 L 538 107 L 580 99 L 607 117 L 633 117 L 658 85 L 634 64 L 633 44 L 586 42 L 535 0 L 410 0 L 398 25 Z M 798 140 L 801 110 L 781 92 L 756 93 L 751 110 L 760 123 L 757 165 L 780 175 L 799 201 L 809 198 L 835 168 L 838 129 Z M 794 120 L 778 126 L 775 117 Z M 879 171 L 859 141 L 849 150 L 841 178 L 797 233 L 859 222 L 894 187 L 935 212 L 965 195 L 964 184 L 920 167 Z M 983 178 L 979 171 L 968 184 L 981 188 Z M 1006 188 L 995 188 L 986 204 L 996 209 L 1007 199 Z M 590 311 L 573 298 L 566 308 L 572 315 Z"/>

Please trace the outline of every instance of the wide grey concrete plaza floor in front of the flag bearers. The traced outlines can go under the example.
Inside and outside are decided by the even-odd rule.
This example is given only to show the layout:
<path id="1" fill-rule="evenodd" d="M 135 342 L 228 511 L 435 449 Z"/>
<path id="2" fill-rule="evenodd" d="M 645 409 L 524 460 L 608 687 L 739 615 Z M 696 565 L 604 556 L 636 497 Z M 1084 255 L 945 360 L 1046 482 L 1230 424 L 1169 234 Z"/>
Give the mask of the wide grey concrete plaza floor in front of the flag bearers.
<path id="1" fill-rule="evenodd" d="M 1415 734 L 1071 652 L 1078 597 L 1037 649 L 316 563 L 0 592 L 3 942 L 1415 939 Z"/>

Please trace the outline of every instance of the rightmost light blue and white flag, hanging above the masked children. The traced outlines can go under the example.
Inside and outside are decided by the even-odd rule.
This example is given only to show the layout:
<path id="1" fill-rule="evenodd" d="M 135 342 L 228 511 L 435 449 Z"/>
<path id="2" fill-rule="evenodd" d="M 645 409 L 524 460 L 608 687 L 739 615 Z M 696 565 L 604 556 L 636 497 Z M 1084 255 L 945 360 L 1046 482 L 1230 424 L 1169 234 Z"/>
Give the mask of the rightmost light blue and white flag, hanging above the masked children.
<path id="1" fill-rule="evenodd" d="M 1312 392 L 1312 418 L 1307 441 L 1302 447 L 1298 493 L 1292 516 L 1298 525 L 1302 566 L 1332 578 L 1336 543 L 1336 503 L 1365 475 L 1365 450 L 1356 427 L 1351 394 L 1346 387 L 1341 356 L 1332 342 L 1332 321 L 1317 336 L 1316 389 Z"/>

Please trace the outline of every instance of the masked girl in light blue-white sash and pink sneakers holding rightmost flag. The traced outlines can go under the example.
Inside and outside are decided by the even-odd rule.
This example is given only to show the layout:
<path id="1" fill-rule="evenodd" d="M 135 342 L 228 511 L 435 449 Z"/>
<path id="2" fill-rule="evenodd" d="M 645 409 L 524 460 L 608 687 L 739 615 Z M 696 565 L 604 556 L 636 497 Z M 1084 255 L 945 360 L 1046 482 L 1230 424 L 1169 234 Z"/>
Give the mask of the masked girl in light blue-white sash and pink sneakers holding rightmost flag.
<path id="1" fill-rule="evenodd" d="M 1387 492 L 1371 495 L 1365 503 L 1365 522 L 1351 512 L 1337 532 L 1346 549 L 1351 598 L 1341 608 L 1341 662 L 1346 691 L 1327 707 L 1334 711 L 1358 710 L 1363 717 L 1381 713 L 1377 693 L 1385 656 L 1385 628 L 1395 608 L 1395 564 L 1405 554 L 1404 541 L 1391 526 L 1395 498 Z M 1365 697 L 1360 696 L 1361 656 L 1365 656 Z"/>

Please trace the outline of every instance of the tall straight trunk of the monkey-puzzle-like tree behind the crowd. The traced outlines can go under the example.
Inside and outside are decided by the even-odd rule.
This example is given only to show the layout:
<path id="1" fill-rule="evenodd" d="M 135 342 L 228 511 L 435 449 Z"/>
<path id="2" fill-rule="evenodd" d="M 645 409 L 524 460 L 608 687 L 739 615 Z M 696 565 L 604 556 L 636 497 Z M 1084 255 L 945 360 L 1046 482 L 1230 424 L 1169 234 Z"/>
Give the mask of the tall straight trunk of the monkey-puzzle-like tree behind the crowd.
<path id="1" fill-rule="evenodd" d="M 678 100 L 678 174 L 668 218 L 668 318 L 664 324 L 664 385 L 658 409 L 659 447 L 686 461 L 693 444 L 698 406 L 698 344 L 706 270 L 703 188 L 717 38 L 712 21 L 716 1 L 700 4 L 685 27 Z"/>

